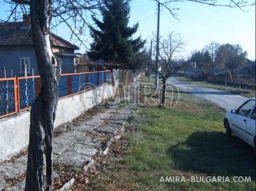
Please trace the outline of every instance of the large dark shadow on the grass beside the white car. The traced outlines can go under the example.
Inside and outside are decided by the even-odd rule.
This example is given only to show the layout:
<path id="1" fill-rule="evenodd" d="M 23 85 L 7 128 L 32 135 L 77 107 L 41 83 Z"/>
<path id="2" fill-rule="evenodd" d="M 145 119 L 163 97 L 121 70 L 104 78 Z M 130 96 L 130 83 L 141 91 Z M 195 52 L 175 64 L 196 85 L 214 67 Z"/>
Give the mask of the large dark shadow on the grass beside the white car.
<path id="1" fill-rule="evenodd" d="M 207 176 L 251 176 L 255 180 L 253 147 L 225 133 L 196 131 L 180 144 L 167 149 L 176 170 Z"/>

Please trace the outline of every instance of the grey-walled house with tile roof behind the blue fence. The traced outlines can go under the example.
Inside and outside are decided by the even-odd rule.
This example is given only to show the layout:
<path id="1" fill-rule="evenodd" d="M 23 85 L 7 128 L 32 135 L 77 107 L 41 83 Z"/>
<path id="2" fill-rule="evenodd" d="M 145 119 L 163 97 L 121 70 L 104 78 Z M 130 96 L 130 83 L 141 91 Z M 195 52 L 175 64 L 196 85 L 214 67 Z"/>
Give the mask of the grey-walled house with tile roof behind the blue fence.
<path id="1" fill-rule="evenodd" d="M 51 33 L 52 52 L 62 60 L 62 74 L 75 72 L 76 45 Z M 36 55 L 33 47 L 30 22 L 26 17 L 23 21 L 0 24 L 0 77 L 3 77 L 3 68 L 6 68 L 7 77 L 23 76 L 25 64 L 27 75 L 32 69 L 38 75 Z"/>

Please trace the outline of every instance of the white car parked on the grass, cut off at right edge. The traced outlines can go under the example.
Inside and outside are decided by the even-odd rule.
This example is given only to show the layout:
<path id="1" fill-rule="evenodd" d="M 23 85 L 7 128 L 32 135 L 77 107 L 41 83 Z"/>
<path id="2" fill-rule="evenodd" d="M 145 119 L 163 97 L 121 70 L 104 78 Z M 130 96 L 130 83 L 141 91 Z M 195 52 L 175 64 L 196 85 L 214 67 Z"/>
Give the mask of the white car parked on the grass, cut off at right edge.
<path id="1" fill-rule="evenodd" d="M 224 127 L 226 136 L 230 137 L 234 133 L 255 150 L 255 98 L 248 99 L 238 109 L 228 111 L 224 119 Z"/>

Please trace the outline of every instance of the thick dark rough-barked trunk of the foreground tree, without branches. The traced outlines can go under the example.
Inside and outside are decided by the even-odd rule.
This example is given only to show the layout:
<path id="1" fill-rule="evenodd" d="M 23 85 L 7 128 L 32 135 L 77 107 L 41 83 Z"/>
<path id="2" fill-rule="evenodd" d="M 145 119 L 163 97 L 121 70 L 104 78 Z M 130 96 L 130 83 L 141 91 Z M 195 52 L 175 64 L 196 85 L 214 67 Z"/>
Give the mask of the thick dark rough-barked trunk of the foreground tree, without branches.
<path id="1" fill-rule="evenodd" d="M 52 138 L 61 63 L 54 57 L 50 44 L 51 0 L 30 2 L 31 31 L 42 87 L 30 112 L 25 190 L 51 190 Z"/>

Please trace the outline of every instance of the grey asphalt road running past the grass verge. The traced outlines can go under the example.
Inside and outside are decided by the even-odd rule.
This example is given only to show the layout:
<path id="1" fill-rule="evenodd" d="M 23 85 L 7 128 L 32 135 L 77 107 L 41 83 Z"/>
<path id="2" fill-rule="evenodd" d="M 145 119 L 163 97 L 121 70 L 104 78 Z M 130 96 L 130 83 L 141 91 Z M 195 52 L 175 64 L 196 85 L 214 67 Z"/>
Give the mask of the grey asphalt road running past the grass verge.
<path id="1" fill-rule="evenodd" d="M 237 109 L 248 99 L 244 96 L 182 82 L 173 77 L 168 79 L 167 83 L 175 85 L 180 92 L 187 92 L 197 97 L 208 99 L 226 110 Z"/>

